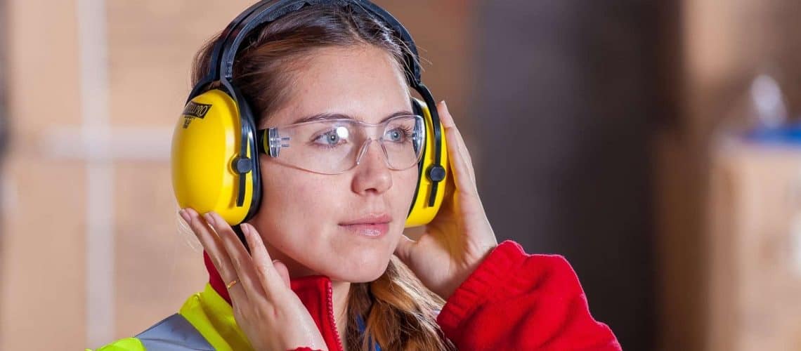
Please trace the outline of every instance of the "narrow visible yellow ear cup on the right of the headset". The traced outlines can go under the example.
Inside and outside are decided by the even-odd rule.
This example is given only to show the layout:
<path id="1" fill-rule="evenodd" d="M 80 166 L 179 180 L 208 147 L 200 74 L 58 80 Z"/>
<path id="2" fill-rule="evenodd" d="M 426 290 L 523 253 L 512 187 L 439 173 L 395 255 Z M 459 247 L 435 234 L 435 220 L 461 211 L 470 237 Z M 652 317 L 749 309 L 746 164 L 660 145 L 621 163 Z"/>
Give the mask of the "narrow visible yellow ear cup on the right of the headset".
<path id="1" fill-rule="evenodd" d="M 417 192 L 413 199 L 412 210 L 409 212 L 409 216 L 406 217 L 406 228 L 429 224 L 429 222 L 437 216 L 437 212 L 442 205 L 442 200 L 445 197 L 445 184 L 447 184 L 448 177 L 450 177 L 448 145 L 445 143 L 445 128 L 440 124 L 442 138 L 440 153 L 442 166 L 445 167 L 445 179 L 440 181 L 434 205 L 429 206 L 429 197 L 433 188 L 433 181 L 431 181 L 426 174 L 429 167 L 436 161 L 435 156 L 437 150 L 435 150 L 435 146 L 437 144 L 435 143 L 434 128 L 429 106 L 426 106 L 425 102 L 417 98 L 414 100 L 417 102 L 417 106 L 421 108 L 423 118 L 425 118 L 425 152 L 423 153 L 421 174 L 420 179 L 417 181 Z"/>

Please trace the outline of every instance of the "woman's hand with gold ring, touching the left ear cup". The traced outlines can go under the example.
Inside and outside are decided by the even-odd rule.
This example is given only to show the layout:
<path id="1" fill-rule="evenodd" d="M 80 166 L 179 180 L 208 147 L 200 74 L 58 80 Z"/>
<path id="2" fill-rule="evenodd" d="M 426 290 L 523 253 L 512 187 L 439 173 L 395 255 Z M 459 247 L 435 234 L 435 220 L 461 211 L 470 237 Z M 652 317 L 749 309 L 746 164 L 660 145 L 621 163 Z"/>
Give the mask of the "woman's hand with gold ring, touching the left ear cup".
<path id="1" fill-rule="evenodd" d="M 308 309 L 289 285 L 287 266 L 272 261 L 252 225 L 241 225 L 251 253 L 217 213 L 200 217 L 194 209 L 180 212 L 223 281 L 238 279 L 228 289 L 234 318 L 254 349 L 285 351 L 308 346 L 328 350 Z M 212 230 L 213 229 L 213 230 Z"/>

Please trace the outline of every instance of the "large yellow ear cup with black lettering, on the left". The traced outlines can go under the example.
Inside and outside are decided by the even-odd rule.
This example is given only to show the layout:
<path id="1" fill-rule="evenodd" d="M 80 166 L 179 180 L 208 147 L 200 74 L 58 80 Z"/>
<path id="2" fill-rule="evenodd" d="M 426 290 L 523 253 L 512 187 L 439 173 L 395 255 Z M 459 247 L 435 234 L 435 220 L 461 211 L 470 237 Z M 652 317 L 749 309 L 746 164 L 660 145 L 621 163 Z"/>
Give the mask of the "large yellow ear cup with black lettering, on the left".
<path id="1" fill-rule="evenodd" d="M 231 225 L 248 215 L 253 172 L 244 175 L 244 205 L 237 207 L 239 174 L 231 166 L 242 142 L 239 123 L 239 108 L 222 90 L 209 90 L 187 103 L 172 134 L 171 155 L 172 188 L 182 209 L 215 211 Z"/>

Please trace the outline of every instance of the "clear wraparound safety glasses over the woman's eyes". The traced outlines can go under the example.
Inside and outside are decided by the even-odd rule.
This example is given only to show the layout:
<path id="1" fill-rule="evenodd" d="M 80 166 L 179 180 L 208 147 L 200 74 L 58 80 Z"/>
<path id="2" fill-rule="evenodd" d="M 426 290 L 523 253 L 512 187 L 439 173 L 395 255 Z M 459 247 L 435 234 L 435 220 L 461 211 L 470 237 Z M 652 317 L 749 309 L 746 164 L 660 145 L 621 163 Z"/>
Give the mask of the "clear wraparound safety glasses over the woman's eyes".
<path id="1" fill-rule="evenodd" d="M 378 142 L 392 170 L 406 170 L 421 158 L 425 124 L 420 116 L 390 118 L 372 125 L 351 119 L 306 122 L 269 130 L 265 149 L 276 162 L 320 174 L 340 174 L 360 162 Z"/>

